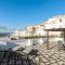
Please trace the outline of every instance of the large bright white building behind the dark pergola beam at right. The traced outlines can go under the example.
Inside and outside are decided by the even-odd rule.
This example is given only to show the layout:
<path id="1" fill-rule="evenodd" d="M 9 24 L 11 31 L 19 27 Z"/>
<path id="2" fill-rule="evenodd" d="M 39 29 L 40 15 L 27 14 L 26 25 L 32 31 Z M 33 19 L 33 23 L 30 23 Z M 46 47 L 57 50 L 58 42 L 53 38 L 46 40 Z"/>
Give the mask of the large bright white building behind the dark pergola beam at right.
<path id="1" fill-rule="evenodd" d="M 51 28 L 65 28 L 65 15 L 57 15 L 53 16 L 52 18 L 49 18 L 46 22 L 46 29 Z M 61 35 L 61 31 L 50 31 L 50 35 Z"/>

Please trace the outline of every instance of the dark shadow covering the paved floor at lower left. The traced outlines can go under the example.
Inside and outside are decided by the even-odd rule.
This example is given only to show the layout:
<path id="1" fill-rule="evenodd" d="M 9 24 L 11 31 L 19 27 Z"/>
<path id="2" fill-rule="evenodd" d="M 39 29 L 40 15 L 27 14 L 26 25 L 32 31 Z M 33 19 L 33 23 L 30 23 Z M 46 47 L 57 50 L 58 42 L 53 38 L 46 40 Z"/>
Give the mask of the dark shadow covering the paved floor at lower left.
<path id="1" fill-rule="evenodd" d="M 34 50 L 29 54 L 34 55 Z M 0 65 L 37 65 L 34 60 L 29 58 L 29 54 L 20 54 L 14 51 L 0 51 Z"/>

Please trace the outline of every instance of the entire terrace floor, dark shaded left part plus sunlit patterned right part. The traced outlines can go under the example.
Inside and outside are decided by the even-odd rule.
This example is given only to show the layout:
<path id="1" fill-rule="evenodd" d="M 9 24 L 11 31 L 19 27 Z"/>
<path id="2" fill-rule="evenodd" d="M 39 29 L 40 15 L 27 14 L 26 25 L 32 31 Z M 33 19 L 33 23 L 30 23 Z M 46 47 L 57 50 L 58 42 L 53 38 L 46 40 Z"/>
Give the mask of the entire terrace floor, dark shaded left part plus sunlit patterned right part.
<path id="1" fill-rule="evenodd" d="M 65 51 L 58 51 L 57 46 L 50 47 L 50 50 L 47 50 L 46 43 L 32 47 L 39 51 L 36 62 L 16 52 L 0 51 L 0 65 L 65 65 Z"/>

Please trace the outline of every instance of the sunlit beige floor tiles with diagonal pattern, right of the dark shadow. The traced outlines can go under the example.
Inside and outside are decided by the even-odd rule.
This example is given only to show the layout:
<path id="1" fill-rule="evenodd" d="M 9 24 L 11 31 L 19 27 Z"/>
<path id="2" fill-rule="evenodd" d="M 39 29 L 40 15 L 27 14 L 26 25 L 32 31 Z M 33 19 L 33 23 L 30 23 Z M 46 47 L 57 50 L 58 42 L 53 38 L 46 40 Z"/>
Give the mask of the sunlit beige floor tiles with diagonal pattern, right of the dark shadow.
<path id="1" fill-rule="evenodd" d="M 65 51 L 58 51 L 57 46 L 50 50 L 47 50 L 46 44 L 36 46 L 35 48 L 40 52 L 40 65 L 65 65 Z"/>

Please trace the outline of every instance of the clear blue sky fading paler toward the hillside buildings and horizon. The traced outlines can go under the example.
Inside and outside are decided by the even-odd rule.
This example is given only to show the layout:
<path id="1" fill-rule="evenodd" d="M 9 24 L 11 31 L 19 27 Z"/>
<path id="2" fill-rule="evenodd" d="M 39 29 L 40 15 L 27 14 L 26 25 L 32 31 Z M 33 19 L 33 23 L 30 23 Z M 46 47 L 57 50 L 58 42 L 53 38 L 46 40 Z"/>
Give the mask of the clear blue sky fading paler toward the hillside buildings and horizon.
<path id="1" fill-rule="evenodd" d="M 0 30 L 25 29 L 61 14 L 65 14 L 65 0 L 0 0 Z"/>

